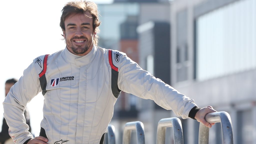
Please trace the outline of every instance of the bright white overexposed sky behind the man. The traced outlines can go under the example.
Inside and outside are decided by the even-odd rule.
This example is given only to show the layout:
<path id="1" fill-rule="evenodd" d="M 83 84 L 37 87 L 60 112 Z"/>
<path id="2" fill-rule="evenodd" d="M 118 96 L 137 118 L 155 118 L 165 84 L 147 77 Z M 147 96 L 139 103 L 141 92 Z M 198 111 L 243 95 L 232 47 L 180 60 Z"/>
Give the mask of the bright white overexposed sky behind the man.
<path id="1" fill-rule="evenodd" d="M 112 3 L 113 0 L 91 0 L 97 4 Z M 68 0 L 13 0 L 0 5 L 0 56 L 1 81 L 0 101 L 5 98 L 5 81 L 19 79 L 33 59 L 52 54 L 65 48 L 59 27 L 61 9 Z M 27 105 L 30 112 L 32 133 L 39 135 L 43 118 L 44 97 L 39 93 Z M 0 105 L 0 131 L 2 129 L 3 105 Z"/>

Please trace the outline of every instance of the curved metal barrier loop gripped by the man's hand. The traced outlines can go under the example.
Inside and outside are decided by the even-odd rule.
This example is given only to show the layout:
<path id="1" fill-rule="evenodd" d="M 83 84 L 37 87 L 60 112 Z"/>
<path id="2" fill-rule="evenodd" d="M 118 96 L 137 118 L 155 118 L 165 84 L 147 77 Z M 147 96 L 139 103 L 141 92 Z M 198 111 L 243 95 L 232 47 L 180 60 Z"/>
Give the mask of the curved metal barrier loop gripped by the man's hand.
<path id="1" fill-rule="evenodd" d="M 233 130 L 232 123 L 229 114 L 225 111 L 212 112 L 205 116 L 205 119 L 209 123 L 221 123 L 222 140 L 225 144 L 233 144 Z M 199 144 L 209 143 L 209 128 L 204 124 L 199 125 Z"/>

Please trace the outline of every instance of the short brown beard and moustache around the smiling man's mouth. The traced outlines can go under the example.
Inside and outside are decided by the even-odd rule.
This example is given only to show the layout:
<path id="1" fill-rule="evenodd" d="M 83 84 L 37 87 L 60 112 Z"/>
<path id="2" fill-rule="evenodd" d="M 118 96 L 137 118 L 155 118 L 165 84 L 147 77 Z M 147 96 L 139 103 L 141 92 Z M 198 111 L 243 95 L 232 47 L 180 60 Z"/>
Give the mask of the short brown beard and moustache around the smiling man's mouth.
<path id="1" fill-rule="evenodd" d="M 86 45 L 85 46 L 81 46 L 81 45 L 76 45 L 74 43 L 72 43 L 73 39 L 86 39 Z M 92 46 L 92 39 L 89 39 L 84 37 L 84 36 L 80 36 L 80 37 L 73 37 L 71 38 L 71 40 L 66 40 L 67 46 L 71 48 L 71 50 L 73 51 L 74 54 L 77 55 L 82 55 L 84 53 L 86 53 L 88 51 L 88 49 Z"/>

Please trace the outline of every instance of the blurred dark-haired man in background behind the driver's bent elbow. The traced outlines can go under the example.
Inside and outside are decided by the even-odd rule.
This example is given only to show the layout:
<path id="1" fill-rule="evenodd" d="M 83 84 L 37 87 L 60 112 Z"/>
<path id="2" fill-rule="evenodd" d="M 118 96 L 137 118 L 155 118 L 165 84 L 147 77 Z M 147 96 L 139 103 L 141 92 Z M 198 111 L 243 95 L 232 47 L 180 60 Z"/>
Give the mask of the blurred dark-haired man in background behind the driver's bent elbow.
<path id="1" fill-rule="evenodd" d="M 10 91 L 10 88 L 17 82 L 15 78 L 8 79 L 5 82 L 5 97 L 7 96 L 8 92 Z M 29 118 L 29 113 L 27 109 L 24 111 L 24 115 L 26 118 L 26 124 L 30 126 L 30 118 Z M 8 133 L 8 125 L 6 124 L 5 118 L 3 119 L 3 125 L 2 125 L 2 131 L 0 132 L 0 144 L 14 144 L 12 139 L 9 136 Z M 29 132 L 31 131 L 31 128 L 28 130 Z"/>

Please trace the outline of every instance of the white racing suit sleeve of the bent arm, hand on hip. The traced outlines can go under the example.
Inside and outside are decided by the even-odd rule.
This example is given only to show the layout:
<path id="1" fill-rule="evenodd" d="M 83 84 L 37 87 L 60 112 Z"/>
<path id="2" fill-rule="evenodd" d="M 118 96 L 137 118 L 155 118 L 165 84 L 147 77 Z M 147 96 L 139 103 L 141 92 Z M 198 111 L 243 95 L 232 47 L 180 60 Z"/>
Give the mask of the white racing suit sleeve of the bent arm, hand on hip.
<path id="1" fill-rule="evenodd" d="M 26 124 L 24 111 L 27 103 L 41 92 L 35 60 L 24 70 L 23 76 L 15 83 L 6 96 L 4 117 L 9 126 L 9 135 L 16 144 L 23 144 L 33 138 Z"/>

